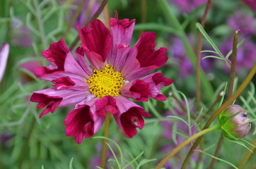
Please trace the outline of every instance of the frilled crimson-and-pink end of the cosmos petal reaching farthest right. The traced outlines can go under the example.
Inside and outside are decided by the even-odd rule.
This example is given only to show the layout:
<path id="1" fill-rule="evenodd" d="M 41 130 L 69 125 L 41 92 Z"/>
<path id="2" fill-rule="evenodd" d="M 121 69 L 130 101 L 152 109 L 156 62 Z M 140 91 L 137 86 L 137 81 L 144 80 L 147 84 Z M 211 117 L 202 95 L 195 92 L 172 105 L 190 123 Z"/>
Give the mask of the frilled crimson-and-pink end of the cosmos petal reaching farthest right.
<path id="1" fill-rule="evenodd" d="M 173 83 L 173 80 L 163 77 L 163 73 L 151 73 L 145 77 L 140 78 L 149 84 L 150 95 L 153 99 L 165 101 L 166 98 L 161 92 L 161 87 L 168 86 Z"/>

